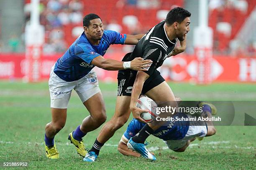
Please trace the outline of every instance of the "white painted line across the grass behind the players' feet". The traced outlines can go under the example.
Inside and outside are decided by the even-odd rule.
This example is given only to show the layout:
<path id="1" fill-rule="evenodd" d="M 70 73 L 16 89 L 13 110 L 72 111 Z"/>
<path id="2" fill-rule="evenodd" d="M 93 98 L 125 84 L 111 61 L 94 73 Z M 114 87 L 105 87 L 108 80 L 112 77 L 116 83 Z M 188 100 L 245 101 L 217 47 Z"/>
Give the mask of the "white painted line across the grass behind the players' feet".
<path id="1" fill-rule="evenodd" d="M 13 141 L 1 141 L 0 140 L 0 144 L 14 144 L 14 143 L 21 144 L 21 145 L 44 145 L 44 143 L 36 143 L 36 142 L 17 143 L 17 142 L 13 142 Z M 218 149 L 218 148 L 224 148 L 224 149 L 236 148 L 236 149 L 245 149 L 245 150 L 255 150 L 256 149 L 253 146 L 247 146 L 247 147 L 241 147 L 241 146 L 237 146 L 237 145 L 220 146 L 220 144 L 231 144 L 231 143 L 230 143 L 230 141 L 210 141 L 210 142 L 192 143 L 189 145 L 189 148 L 202 147 L 202 148 L 213 148 L 213 149 Z M 57 145 L 67 146 L 67 145 L 72 145 L 72 144 L 67 142 L 67 143 L 57 143 Z M 106 143 L 104 146 L 118 147 L 117 144 L 110 144 L 110 143 Z M 166 149 L 169 149 L 169 148 L 167 146 L 148 148 L 149 151 L 166 150 Z"/>

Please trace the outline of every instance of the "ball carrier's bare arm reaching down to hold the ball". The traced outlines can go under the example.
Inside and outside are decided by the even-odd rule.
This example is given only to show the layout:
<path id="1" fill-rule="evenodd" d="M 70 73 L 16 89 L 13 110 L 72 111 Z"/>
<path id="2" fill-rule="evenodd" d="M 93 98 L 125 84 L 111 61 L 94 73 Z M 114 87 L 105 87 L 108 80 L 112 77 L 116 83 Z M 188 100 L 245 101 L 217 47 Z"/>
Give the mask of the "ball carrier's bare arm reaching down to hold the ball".
<path id="1" fill-rule="evenodd" d="M 146 123 L 146 121 L 143 120 L 140 115 L 143 112 L 147 112 L 147 110 L 142 110 L 136 107 L 136 103 L 139 95 L 141 94 L 143 84 L 148 79 L 148 77 L 149 75 L 146 72 L 138 71 L 135 82 L 133 84 L 133 90 L 131 94 L 131 103 L 130 103 L 130 109 L 131 109 L 131 112 L 133 113 L 133 117 L 143 123 Z"/>

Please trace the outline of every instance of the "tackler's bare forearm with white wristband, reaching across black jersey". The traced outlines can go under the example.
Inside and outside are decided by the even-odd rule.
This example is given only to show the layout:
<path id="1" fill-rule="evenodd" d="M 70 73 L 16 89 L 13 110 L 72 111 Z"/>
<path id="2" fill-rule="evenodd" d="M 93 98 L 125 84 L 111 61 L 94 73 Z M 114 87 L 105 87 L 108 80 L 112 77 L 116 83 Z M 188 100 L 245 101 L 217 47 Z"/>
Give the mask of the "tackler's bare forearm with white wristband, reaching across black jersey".
<path id="1" fill-rule="evenodd" d="M 104 70 L 125 70 L 125 69 L 132 69 L 132 70 L 144 70 L 148 64 L 152 63 L 151 60 L 143 60 L 141 57 L 134 58 L 132 61 L 123 62 L 117 61 L 112 59 L 106 59 L 99 55 L 92 60 L 92 64 L 100 67 Z"/>

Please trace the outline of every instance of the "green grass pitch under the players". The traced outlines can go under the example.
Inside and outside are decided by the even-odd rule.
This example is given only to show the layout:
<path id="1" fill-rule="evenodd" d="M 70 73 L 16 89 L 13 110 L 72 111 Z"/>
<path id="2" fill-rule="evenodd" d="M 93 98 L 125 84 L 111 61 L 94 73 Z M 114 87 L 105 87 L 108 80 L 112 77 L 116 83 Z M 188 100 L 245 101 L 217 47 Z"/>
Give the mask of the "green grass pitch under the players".
<path id="1" fill-rule="evenodd" d="M 189 85 L 170 83 L 174 94 L 182 100 L 256 101 L 255 84 Z M 115 109 L 115 83 L 100 82 L 108 120 Z M 184 153 L 166 149 L 158 138 L 150 136 L 148 148 L 157 160 L 132 158 L 118 153 L 117 145 L 128 123 L 118 130 L 100 151 L 95 163 L 85 163 L 67 140 L 68 134 L 89 115 L 73 91 L 67 122 L 55 137 L 59 160 L 48 160 L 44 151 L 44 127 L 51 120 L 48 83 L 0 82 L 0 169 L 3 162 L 28 162 L 29 169 L 255 169 L 256 126 L 218 126 L 217 134 L 195 140 Z M 255 108 L 255 107 L 254 107 Z M 255 114 L 255 112 L 254 112 Z M 251 115 L 256 117 L 255 115 Z M 131 120 L 132 116 L 130 116 Z M 129 121 L 128 120 L 128 121 Z M 100 128 L 84 137 L 91 148 Z M 18 169 L 18 168 L 17 168 Z"/>

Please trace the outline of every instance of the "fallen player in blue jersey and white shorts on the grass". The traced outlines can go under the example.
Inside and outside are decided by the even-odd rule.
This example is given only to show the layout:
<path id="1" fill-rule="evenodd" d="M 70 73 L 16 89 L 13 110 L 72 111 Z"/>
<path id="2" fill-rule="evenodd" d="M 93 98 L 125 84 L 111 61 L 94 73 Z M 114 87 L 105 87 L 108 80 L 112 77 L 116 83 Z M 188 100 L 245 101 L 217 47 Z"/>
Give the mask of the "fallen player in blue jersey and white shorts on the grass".
<path id="1" fill-rule="evenodd" d="M 200 102 L 199 107 L 202 107 L 203 113 L 202 117 L 211 117 L 217 113 L 217 109 L 214 105 L 210 103 Z M 174 121 L 169 121 L 166 125 L 161 126 L 159 129 L 155 130 L 152 135 L 160 138 L 166 143 L 169 149 L 175 152 L 184 152 L 189 144 L 196 138 L 202 140 L 205 136 L 211 136 L 216 133 L 212 122 L 197 122 L 197 121 L 175 121 L 176 117 L 188 117 L 184 113 L 177 113 L 174 115 Z M 189 116 L 191 117 L 191 116 Z M 143 127 L 145 123 L 139 122 L 137 119 L 131 120 L 127 130 L 123 134 L 118 150 L 123 155 L 140 157 L 141 154 L 129 150 L 127 143 L 135 136 Z"/>

